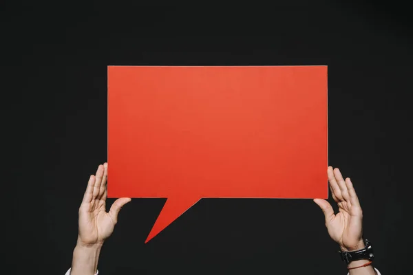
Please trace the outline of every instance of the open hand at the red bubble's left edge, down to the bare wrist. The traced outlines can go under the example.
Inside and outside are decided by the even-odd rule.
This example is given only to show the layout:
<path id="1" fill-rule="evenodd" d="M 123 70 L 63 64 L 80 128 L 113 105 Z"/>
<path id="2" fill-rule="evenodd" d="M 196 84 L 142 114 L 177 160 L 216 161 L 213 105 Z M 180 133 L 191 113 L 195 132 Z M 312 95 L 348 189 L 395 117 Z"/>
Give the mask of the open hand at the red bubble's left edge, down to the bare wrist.
<path id="1" fill-rule="evenodd" d="M 96 176 L 91 175 L 81 207 L 79 208 L 78 245 L 102 245 L 118 222 L 118 213 L 130 198 L 120 198 L 106 212 L 107 163 L 98 166 Z"/>

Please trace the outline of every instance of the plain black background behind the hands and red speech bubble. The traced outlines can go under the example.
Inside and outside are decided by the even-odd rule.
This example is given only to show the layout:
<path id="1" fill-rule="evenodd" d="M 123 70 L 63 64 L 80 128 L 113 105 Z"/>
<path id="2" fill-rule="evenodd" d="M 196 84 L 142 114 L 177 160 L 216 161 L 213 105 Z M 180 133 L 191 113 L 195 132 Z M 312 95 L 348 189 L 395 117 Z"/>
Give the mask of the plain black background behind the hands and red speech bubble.
<path id="1" fill-rule="evenodd" d="M 407 2 L 114 3 L 1 3 L 7 274 L 70 267 L 106 161 L 107 65 L 328 65 L 329 164 L 352 178 L 374 266 L 413 271 Z M 346 274 L 312 200 L 202 199 L 144 244 L 164 202 L 123 208 L 100 274 Z"/>

